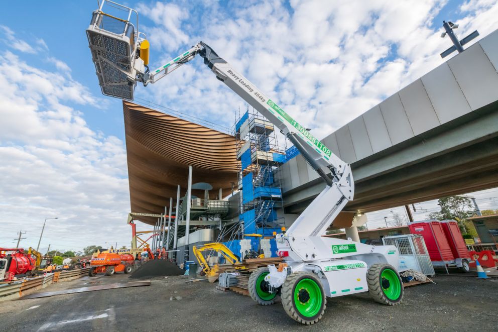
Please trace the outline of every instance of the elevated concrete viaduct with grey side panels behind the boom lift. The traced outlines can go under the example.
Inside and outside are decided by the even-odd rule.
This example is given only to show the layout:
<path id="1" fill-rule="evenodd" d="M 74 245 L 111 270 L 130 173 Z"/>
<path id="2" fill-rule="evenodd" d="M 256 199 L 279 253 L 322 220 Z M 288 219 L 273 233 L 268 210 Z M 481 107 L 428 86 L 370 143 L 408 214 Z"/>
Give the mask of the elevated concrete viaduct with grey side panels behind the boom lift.
<path id="1" fill-rule="evenodd" d="M 409 84 L 323 142 L 349 162 L 356 212 L 498 187 L 498 31 Z M 323 181 L 297 156 L 277 171 L 286 213 Z"/>

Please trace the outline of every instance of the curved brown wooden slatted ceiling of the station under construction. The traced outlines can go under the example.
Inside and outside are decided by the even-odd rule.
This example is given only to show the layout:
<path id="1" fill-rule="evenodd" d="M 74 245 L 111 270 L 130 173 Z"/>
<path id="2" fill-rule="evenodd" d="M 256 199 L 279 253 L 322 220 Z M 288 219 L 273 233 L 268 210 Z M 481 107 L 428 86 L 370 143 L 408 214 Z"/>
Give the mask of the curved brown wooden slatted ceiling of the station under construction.
<path id="1" fill-rule="evenodd" d="M 211 198 L 221 187 L 223 195 L 237 183 L 235 138 L 213 129 L 123 101 L 125 135 L 132 212 L 161 213 L 176 204 L 177 185 L 183 196 L 187 188 L 188 166 L 192 183 L 213 186 Z M 202 191 L 193 195 L 204 198 Z M 153 225 L 156 218 L 138 217 Z"/>

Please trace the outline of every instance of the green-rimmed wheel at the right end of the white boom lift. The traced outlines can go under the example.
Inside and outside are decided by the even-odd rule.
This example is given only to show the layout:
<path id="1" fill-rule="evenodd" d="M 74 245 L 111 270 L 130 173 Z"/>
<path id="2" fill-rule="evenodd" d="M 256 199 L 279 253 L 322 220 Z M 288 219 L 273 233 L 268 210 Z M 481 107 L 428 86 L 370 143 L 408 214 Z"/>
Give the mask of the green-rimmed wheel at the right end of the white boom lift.
<path id="1" fill-rule="evenodd" d="M 398 305 L 403 300 L 403 282 L 396 269 L 389 264 L 374 264 L 366 273 L 368 292 L 376 302 Z"/>

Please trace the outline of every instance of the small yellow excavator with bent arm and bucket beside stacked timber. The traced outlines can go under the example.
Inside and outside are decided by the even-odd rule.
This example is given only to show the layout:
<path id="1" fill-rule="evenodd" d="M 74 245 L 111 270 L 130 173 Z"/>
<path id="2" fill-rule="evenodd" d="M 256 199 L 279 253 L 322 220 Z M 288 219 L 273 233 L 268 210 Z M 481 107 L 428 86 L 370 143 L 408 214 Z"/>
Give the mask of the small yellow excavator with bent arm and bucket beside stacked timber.
<path id="1" fill-rule="evenodd" d="M 259 237 L 261 238 L 261 234 L 244 234 L 245 237 Z M 206 243 L 202 246 L 193 246 L 192 251 L 197 258 L 197 262 L 199 262 L 200 267 L 202 268 L 202 273 L 207 276 L 207 280 L 210 283 L 215 282 L 218 277 L 219 277 L 219 265 L 215 264 L 212 267 L 209 266 L 209 264 L 206 262 L 206 259 L 204 258 L 204 255 L 202 255 L 202 252 L 204 251 L 212 251 L 216 253 L 220 253 L 221 256 L 226 260 L 226 263 L 228 264 L 236 264 L 240 263 L 241 260 L 240 258 L 232 253 L 228 247 L 226 247 L 224 244 L 219 243 L 219 242 L 213 242 L 213 243 Z M 251 256 L 246 258 L 264 258 L 265 255 L 261 254 L 256 256 Z"/>

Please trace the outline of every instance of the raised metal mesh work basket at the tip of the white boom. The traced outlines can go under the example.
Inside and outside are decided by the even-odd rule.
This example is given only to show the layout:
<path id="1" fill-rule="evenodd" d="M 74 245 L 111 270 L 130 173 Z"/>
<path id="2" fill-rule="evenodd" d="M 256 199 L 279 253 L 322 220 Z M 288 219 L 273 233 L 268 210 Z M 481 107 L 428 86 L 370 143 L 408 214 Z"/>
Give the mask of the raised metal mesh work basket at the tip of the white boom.
<path id="1" fill-rule="evenodd" d="M 104 13 L 104 4 L 120 17 Z M 137 18 L 136 26 L 130 22 L 132 14 Z M 134 67 L 144 68 L 143 61 L 136 61 L 139 45 L 145 39 L 145 35 L 138 32 L 137 12 L 104 0 L 99 10 L 92 13 L 86 35 L 102 93 L 133 100 L 137 73 Z"/>

